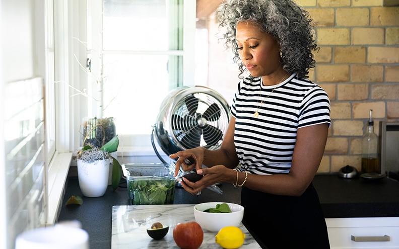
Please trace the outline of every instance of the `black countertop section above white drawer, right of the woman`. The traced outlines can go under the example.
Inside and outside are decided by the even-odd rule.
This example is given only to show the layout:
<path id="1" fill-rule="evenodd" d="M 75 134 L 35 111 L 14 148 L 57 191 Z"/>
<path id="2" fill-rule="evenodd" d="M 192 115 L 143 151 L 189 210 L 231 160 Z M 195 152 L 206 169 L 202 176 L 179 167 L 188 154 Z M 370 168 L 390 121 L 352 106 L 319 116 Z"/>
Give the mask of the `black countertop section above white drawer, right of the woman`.
<path id="1" fill-rule="evenodd" d="M 398 217 L 399 182 L 317 175 L 313 185 L 325 218 Z"/>

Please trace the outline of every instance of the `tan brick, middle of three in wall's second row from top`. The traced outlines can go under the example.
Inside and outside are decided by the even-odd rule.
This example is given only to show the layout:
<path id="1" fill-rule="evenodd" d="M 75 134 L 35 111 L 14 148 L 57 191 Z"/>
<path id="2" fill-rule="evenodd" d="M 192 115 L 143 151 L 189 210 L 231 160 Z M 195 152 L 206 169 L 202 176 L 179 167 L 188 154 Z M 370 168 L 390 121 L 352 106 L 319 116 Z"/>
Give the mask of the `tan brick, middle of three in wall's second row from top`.
<path id="1" fill-rule="evenodd" d="M 369 25 L 368 8 L 339 8 L 336 11 L 337 26 L 368 26 Z"/>

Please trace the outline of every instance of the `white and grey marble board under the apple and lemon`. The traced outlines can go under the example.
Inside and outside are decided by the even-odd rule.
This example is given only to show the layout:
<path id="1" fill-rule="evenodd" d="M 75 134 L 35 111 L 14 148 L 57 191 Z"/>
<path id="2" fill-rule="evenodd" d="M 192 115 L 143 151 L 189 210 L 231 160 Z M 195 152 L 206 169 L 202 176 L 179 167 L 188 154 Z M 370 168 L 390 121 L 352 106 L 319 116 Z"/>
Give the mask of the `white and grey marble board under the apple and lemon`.
<path id="1" fill-rule="evenodd" d="M 111 248 L 179 248 L 173 239 L 173 228 L 178 223 L 195 221 L 193 207 L 194 204 L 113 206 Z M 169 226 L 169 232 L 160 240 L 147 234 L 147 228 L 154 222 Z M 246 236 L 240 249 L 261 248 L 244 225 L 239 228 Z M 215 242 L 215 235 L 204 230 L 200 248 L 222 248 Z"/>

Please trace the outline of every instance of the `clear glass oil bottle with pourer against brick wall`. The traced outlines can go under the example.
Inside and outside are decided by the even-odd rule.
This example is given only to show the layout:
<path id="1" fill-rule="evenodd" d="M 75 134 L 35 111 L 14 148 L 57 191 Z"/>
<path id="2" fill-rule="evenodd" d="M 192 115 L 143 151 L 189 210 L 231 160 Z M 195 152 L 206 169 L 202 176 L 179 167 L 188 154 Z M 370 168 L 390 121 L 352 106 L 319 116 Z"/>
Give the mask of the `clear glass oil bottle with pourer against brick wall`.
<path id="1" fill-rule="evenodd" d="M 379 173 L 378 139 L 374 133 L 373 110 L 370 110 L 370 119 L 367 121 L 367 130 L 362 139 L 362 172 Z"/>

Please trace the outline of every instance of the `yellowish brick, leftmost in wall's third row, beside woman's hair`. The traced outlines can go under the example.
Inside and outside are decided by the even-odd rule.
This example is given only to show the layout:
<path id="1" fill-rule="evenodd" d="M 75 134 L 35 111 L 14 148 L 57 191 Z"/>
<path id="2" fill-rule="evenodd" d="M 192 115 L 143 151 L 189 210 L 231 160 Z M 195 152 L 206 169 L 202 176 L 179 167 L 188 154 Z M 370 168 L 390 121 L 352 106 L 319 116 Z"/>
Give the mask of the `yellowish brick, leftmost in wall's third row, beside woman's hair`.
<path id="1" fill-rule="evenodd" d="M 349 45 L 350 32 L 345 28 L 319 28 L 317 41 L 319 45 Z"/>

